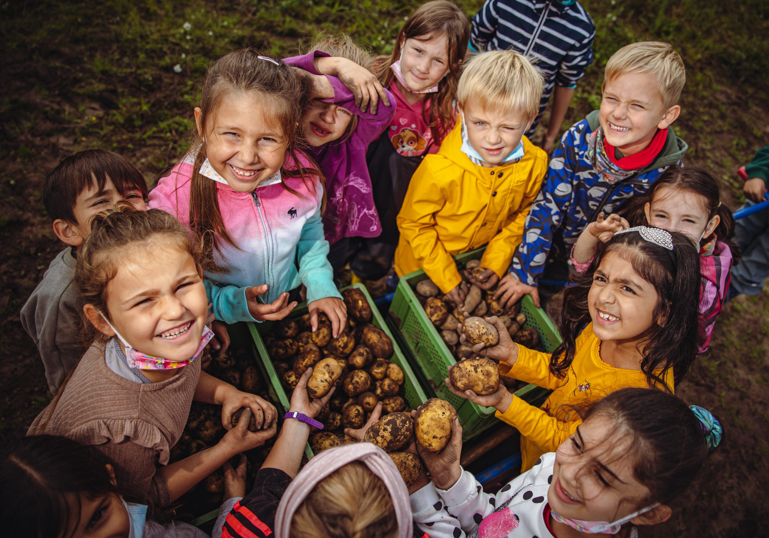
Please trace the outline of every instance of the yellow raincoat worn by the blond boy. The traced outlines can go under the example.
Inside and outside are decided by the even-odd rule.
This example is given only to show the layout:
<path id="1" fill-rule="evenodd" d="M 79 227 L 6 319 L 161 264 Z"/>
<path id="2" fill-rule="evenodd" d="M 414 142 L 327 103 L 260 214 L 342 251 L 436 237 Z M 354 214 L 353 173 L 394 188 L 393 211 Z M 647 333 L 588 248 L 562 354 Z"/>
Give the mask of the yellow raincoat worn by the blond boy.
<path id="1" fill-rule="evenodd" d="M 520 161 L 494 168 L 473 164 L 460 151 L 460 120 L 437 154 L 411 177 L 398 213 L 395 251 L 399 276 L 424 269 L 441 291 L 461 276 L 451 256 L 488 243 L 481 267 L 504 276 L 524 231 L 524 221 L 548 169 L 548 155 L 524 136 Z"/>

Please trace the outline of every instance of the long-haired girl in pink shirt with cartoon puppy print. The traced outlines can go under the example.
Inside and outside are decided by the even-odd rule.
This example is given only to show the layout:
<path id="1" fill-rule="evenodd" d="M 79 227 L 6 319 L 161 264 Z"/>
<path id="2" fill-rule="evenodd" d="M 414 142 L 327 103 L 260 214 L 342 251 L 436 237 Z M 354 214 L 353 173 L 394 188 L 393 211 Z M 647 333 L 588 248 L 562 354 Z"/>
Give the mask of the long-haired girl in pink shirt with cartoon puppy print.
<path id="1" fill-rule="evenodd" d="M 376 280 L 390 271 L 399 237 L 395 218 L 411 175 L 454 128 L 454 100 L 469 25 L 467 15 L 453 2 L 425 2 L 398 32 L 390 58 L 377 66 L 381 84 L 395 98 L 395 115 L 366 154 L 382 233 L 362 241 L 351 264 L 361 278 Z"/>

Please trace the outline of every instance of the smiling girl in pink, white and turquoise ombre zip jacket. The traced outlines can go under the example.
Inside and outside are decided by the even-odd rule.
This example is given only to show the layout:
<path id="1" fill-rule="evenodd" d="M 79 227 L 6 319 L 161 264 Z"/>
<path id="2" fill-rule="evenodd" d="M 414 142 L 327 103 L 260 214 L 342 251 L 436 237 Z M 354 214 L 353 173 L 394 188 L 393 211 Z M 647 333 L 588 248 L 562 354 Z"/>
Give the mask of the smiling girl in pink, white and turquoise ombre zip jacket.
<path id="1" fill-rule="evenodd" d="M 307 95 L 282 61 L 251 49 L 219 58 L 195 108 L 199 138 L 150 192 L 149 207 L 203 238 L 216 319 L 281 319 L 304 284 L 313 330 L 324 311 L 336 336 L 347 310 L 327 259 L 323 178 L 297 149 Z"/>

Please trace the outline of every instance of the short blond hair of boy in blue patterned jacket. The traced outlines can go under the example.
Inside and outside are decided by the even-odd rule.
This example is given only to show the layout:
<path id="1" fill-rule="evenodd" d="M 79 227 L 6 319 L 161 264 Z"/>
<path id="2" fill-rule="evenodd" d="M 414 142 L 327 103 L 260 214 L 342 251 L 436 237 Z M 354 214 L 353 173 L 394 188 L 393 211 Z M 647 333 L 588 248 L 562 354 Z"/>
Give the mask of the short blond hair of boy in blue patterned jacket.
<path id="1" fill-rule="evenodd" d="M 686 84 L 686 68 L 670 43 L 644 41 L 625 45 L 606 64 L 604 84 L 629 73 L 648 73 L 657 78 L 665 110 L 676 105 Z"/>

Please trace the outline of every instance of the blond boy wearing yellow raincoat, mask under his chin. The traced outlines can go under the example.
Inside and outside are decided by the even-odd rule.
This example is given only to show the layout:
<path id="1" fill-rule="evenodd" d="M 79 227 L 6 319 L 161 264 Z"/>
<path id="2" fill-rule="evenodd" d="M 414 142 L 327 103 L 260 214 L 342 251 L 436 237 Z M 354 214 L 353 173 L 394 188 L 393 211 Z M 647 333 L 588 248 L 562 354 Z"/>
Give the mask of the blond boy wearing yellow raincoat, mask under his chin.
<path id="1" fill-rule="evenodd" d="M 485 271 L 475 283 L 488 289 L 504 275 L 547 170 L 547 154 L 524 136 L 543 84 L 539 71 L 514 51 L 468 61 L 457 91 L 459 121 L 414 172 L 398 214 L 399 275 L 424 269 L 461 304 L 464 291 L 451 256 L 486 243 Z"/>

